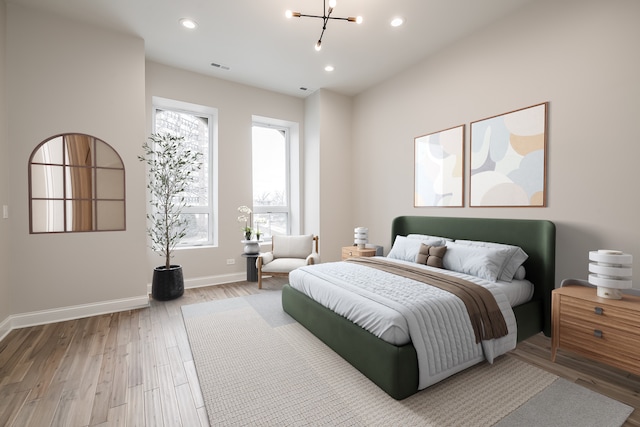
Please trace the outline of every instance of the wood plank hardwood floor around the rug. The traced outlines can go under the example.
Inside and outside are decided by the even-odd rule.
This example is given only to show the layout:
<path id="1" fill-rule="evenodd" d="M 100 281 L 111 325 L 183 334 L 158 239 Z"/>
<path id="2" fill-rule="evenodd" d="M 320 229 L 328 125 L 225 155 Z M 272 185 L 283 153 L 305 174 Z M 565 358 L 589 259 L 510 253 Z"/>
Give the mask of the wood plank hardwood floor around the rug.
<path id="1" fill-rule="evenodd" d="M 148 309 L 12 331 L 0 342 L 0 426 L 209 425 L 180 306 L 257 292 L 247 282 L 188 289 Z M 507 357 L 633 406 L 625 425 L 640 426 L 640 377 L 562 351 L 552 363 L 550 347 L 537 335 Z"/>

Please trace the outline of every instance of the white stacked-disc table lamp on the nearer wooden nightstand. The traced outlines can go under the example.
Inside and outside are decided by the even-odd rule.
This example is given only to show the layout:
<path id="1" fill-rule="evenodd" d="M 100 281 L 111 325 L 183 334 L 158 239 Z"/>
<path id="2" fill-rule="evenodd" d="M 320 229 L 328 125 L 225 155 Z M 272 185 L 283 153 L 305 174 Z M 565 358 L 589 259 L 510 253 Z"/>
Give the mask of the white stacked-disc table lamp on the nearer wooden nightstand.
<path id="1" fill-rule="evenodd" d="M 589 252 L 589 283 L 602 298 L 621 299 L 620 289 L 631 287 L 633 256 L 621 251 L 600 249 Z"/>

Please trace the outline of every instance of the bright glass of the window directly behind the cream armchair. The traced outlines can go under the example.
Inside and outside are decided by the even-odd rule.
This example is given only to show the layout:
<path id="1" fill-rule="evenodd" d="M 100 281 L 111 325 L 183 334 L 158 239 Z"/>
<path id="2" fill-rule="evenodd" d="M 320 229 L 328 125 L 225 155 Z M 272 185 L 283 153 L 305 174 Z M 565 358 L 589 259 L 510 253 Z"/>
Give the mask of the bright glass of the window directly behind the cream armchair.
<path id="1" fill-rule="evenodd" d="M 254 227 L 265 239 L 289 234 L 289 128 L 254 122 L 252 172 Z"/>

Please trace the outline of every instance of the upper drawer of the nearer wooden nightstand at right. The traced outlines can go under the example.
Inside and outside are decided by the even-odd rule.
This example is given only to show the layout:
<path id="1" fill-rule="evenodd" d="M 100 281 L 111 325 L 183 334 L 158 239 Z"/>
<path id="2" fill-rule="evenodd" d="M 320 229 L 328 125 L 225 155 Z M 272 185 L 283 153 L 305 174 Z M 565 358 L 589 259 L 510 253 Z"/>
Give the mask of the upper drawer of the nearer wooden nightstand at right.
<path id="1" fill-rule="evenodd" d="M 640 312 L 638 311 L 578 298 L 563 297 L 560 301 L 563 316 L 573 315 L 596 323 L 629 325 L 635 328 L 640 325 Z"/>

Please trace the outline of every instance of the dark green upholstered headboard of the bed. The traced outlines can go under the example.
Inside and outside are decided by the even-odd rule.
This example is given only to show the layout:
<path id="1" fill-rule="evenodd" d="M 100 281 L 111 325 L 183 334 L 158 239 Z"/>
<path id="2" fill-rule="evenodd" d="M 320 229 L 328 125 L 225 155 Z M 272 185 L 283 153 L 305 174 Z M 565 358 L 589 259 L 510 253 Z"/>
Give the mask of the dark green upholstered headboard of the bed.
<path id="1" fill-rule="evenodd" d="M 556 227 L 546 220 L 399 216 L 391 226 L 397 235 L 429 234 L 452 239 L 482 240 L 520 246 L 529 258 L 524 263 L 534 286 L 533 299 L 542 300 L 543 331 L 551 334 L 551 291 L 555 288 Z"/>

